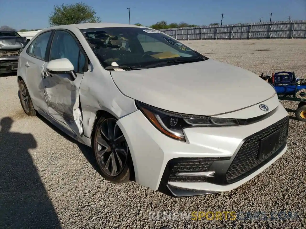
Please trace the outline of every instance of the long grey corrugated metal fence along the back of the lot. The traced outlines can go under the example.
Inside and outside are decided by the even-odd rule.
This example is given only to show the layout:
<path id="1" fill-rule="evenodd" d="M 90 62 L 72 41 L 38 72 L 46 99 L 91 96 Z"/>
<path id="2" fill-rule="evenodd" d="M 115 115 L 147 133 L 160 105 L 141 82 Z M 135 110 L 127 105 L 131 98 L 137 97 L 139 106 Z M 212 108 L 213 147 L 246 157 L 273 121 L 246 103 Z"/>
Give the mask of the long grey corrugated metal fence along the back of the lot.
<path id="1" fill-rule="evenodd" d="M 177 40 L 305 39 L 306 20 L 161 29 Z"/>

